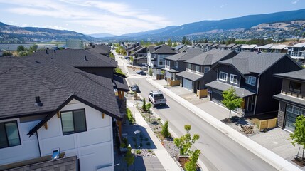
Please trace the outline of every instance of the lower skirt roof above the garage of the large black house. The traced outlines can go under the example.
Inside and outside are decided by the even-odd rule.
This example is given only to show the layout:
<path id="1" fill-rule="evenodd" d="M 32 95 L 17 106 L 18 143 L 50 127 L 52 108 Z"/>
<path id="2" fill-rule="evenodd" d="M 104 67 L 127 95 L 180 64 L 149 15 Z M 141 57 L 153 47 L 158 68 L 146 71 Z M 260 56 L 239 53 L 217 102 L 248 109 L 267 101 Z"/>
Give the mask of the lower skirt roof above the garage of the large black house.
<path id="1" fill-rule="evenodd" d="M 215 88 L 217 90 L 225 91 L 228 90 L 230 87 L 235 89 L 235 93 L 238 97 L 240 98 L 245 98 L 249 95 L 254 95 L 255 92 L 251 90 L 250 88 L 243 87 L 243 88 L 238 88 L 235 86 L 231 86 L 230 84 L 227 83 L 221 83 L 219 81 L 212 81 L 210 83 L 205 84 L 205 86 L 208 86 L 210 88 Z"/>

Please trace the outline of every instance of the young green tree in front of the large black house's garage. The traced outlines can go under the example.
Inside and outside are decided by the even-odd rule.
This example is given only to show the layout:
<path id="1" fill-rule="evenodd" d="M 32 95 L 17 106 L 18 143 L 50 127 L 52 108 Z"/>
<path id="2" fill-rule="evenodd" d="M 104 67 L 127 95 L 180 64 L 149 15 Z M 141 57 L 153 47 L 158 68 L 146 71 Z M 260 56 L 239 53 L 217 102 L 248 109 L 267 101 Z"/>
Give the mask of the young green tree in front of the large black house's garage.
<path id="1" fill-rule="evenodd" d="M 238 98 L 235 89 L 233 87 L 230 87 L 228 90 L 225 90 L 223 92 L 223 100 L 221 101 L 223 105 L 225 105 L 225 108 L 228 108 L 230 110 L 229 118 L 231 118 L 231 112 L 235 108 L 240 108 L 242 105 L 242 98 Z"/>

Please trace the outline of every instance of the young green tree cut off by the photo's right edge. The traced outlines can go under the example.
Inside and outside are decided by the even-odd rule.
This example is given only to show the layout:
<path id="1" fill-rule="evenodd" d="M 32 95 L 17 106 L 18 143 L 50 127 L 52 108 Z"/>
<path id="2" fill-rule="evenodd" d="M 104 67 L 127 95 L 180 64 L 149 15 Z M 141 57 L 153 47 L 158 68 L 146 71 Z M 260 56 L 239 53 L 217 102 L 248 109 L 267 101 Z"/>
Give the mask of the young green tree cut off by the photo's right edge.
<path id="1" fill-rule="evenodd" d="M 293 140 L 292 145 L 301 145 L 303 146 L 302 159 L 304 158 L 304 149 L 305 149 L 305 117 L 304 115 L 299 115 L 296 117 L 296 128 L 294 133 L 290 133 L 290 138 Z"/>

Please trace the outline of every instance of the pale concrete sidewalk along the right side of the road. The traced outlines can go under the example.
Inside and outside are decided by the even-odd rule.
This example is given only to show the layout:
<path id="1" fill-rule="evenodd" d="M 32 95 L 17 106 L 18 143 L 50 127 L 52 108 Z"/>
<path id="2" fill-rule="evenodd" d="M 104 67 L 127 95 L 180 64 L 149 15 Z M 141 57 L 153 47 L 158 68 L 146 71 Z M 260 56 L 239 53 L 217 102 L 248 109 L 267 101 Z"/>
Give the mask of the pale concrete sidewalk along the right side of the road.
<path id="1" fill-rule="evenodd" d="M 277 170 L 299 170 L 299 168 L 292 165 L 287 160 L 284 160 L 284 158 L 268 150 L 262 145 L 259 145 L 257 142 L 251 140 L 250 138 L 247 138 L 245 135 L 238 133 L 236 130 L 230 128 L 228 125 L 225 125 L 225 123 L 222 123 L 220 120 L 214 118 L 212 115 L 206 113 L 204 110 L 201 110 L 196 105 L 193 105 L 192 103 L 188 102 L 188 100 L 181 98 L 181 96 L 176 95 L 168 88 L 164 88 L 164 86 L 160 85 L 153 79 L 148 78 L 147 81 L 149 81 L 151 85 L 155 86 L 157 89 L 161 90 L 166 95 L 181 103 L 181 105 L 183 105 L 185 108 L 188 108 L 188 110 L 191 110 L 200 118 L 210 123 L 210 125 L 213 125 L 215 128 L 228 135 L 229 138 L 235 140 L 235 142 L 247 148 L 247 150 L 250 150 L 255 155 L 262 158 L 262 160 L 268 162 Z"/>

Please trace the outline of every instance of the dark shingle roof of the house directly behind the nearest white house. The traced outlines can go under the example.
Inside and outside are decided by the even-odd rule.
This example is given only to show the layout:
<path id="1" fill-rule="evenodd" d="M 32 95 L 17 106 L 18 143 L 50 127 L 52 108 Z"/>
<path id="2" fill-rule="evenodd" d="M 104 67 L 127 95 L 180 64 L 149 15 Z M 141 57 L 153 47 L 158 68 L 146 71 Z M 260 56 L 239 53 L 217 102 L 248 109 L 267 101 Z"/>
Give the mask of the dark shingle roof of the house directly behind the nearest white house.
<path id="1" fill-rule="evenodd" d="M 53 61 L 74 67 L 117 67 L 117 61 L 114 59 L 85 49 L 37 51 L 24 58 L 30 58 L 34 61 Z"/>

